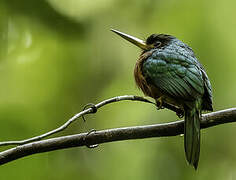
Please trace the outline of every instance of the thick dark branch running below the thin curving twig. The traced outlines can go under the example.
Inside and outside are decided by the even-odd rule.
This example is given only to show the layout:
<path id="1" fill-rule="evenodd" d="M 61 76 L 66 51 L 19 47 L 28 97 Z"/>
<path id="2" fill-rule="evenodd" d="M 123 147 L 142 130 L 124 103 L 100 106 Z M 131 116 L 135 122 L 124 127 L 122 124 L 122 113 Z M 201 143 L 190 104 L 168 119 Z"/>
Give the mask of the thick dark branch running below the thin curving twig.
<path id="1" fill-rule="evenodd" d="M 236 122 L 236 108 L 204 114 L 201 118 L 201 128 L 208 128 L 231 122 Z M 184 121 L 181 120 L 164 124 L 116 128 L 91 132 L 89 134 L 81 133 L 51 138 L 21 145 L 1 152 L 0 164 L 5 164 L 32 154 L 71 147 L 89 146 L 128 139 L 176 136 L 183 134 L 183 126 Z"/>

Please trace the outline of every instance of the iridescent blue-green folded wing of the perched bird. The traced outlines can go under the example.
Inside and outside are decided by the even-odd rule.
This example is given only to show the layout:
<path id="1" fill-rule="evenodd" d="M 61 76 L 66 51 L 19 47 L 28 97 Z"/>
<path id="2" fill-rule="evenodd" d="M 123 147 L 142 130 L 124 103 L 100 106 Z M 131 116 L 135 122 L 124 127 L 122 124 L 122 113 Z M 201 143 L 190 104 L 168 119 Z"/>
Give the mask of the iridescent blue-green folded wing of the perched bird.
<path id="1" fill-rule="evenodd" d="M 150 56 L 143 63 L 143 74 L 163 93 L 187 101 L 201 97 L 204 93 L 202 72 L 191 61 Z"/>

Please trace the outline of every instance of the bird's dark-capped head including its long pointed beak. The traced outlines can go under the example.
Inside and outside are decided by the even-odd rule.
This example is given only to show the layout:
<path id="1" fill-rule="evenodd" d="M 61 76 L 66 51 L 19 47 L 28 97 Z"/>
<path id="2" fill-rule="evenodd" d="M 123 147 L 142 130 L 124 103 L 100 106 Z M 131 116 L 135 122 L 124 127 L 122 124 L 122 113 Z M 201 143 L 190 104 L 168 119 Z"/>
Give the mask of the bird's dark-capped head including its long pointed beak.
<path id="1" fill-rule="evenodd" d="M 138 46 L 143 51 L 149 51 L 151 49 L 159 49 L 168 46 L 173 42 L 173 40 L 177 40 L 174 36 L 171 35 L 152 34 L 144 41 L 114 29 L 111 29 L 111 31 L 118 34 L 127 41 L 133 43 L 134 45 Z"/>

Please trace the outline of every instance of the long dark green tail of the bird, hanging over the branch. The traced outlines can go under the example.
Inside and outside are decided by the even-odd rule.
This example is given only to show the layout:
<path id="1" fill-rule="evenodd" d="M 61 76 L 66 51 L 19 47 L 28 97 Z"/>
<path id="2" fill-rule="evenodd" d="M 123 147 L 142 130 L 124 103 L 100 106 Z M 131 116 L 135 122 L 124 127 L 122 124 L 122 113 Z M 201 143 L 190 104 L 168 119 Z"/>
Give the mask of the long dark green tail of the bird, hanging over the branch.
<path id="1" fill-rule="evenodd" d="M 200 155 L 200 112 L 185 109 L 184 148 L 187 161 L 197 169 Z"/>

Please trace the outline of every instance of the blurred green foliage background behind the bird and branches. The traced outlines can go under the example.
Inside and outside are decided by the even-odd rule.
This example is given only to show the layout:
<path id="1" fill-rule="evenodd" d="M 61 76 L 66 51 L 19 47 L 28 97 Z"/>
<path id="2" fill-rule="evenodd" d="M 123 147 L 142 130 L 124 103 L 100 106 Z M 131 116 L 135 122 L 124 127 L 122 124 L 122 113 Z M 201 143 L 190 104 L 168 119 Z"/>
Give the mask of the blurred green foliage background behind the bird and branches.
<path id="1" fill-rule="evenodd" d="M 111 27 L 140 38 L 167 33 L 183 40 L 207 70 L 214 109 L 234 107 L 235 6 L 234 0 L 1 0 L 0 141 L 52 130 L 89 102 L 142 95 L 133 80 L 140 50 Z M 145 103 L 120 102 L 60 135 L 177 119 Z M 202 131 L 197 172 L 186 163 L 183 137 L 171 137 L 37 154 L 1 166 L 0 179 L 234 179 L 235 129 Z"/>

